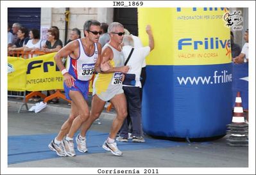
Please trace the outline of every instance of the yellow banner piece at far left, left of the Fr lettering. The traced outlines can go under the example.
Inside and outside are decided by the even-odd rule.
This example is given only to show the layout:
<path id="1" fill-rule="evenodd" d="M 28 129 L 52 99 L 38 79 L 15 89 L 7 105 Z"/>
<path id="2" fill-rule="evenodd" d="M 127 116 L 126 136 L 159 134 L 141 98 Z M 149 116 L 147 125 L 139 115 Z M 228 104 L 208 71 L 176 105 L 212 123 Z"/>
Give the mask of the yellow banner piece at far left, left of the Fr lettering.
<path id="1" fill-rule="evenodd" d="M 8 56 L 8 90 L 26 90 L 26 60 Z"/>

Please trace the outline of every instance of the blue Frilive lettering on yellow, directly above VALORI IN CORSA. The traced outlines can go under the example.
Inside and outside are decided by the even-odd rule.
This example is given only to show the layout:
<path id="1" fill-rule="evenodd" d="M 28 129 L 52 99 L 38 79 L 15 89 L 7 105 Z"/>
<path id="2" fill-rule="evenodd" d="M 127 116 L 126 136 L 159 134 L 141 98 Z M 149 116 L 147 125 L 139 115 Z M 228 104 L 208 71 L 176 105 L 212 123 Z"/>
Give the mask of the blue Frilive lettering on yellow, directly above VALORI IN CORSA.
<path id="1" fill-rule="evenodd" d="M 192 40 L 192 38 L 183 38 L 178 40 L 178 50 L 183 50 L 184 46 L 192 46 L 194 50 L 198 49 L 225 49 L 226 45 L 230 48 L 230 40 L 219 40 L 218 37 L 204 38 L 204 40 Z"/>

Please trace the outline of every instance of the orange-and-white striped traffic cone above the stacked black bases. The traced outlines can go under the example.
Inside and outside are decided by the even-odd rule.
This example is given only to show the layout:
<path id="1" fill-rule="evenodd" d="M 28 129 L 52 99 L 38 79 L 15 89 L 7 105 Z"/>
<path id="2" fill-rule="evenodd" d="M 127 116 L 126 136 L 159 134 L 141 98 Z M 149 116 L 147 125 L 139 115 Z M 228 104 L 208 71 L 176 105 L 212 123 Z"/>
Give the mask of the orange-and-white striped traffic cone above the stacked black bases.
<path id="1" fill-rule="evenodd" d="M 232 118 L 232 123 L 244 123 L 244 110 L 242 106 L 242 98 L 240 92 L 237 92 L 237 97 L 235 98 L 234 115 Z"/>

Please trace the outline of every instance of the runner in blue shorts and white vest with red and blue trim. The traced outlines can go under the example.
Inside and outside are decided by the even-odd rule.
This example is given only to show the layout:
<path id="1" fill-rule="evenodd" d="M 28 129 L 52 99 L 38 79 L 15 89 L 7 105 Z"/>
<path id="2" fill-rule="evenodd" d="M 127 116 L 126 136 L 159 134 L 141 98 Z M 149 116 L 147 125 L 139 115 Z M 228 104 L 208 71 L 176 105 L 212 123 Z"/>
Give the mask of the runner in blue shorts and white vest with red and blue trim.
<path id="1" fill-rule="evenodd" d="M 101 45 L 98 43 L 101 34 L 100 23 L 97 20 L 87 20 L 83 25 L 86 37 L 68 43 L 58 51 L 55 62 L 64 76 L 65 96 L 71 100 L 71 112 L 57 137 L 51 141 L 49 148 L 58 156 L 75 156 L 73 136 L 81 124 L 89 118 L 87 97 L 89 80 L 94 73 L 94 66 L 99 64 Z M 67 68 L 62 63 L 62 57 L 67 57 Z M 109 65 L 102 66 L 108 70 Z M 65 137 L 66 136 L 66 137 Z M 64 139 L 65 137 L 65 139 Z M 76 138 L 78 149 L 83 148 L 85 137 Z M 80 143 L 81 142 L 81 143 Z"/>

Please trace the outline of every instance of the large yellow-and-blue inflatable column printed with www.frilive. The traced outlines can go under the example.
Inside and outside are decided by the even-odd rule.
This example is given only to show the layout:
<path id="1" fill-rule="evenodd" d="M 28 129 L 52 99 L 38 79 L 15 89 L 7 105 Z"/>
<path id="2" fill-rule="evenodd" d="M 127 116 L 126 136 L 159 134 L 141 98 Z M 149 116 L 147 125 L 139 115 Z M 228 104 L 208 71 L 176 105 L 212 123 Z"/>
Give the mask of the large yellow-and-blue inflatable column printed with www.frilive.
<path id="1" fill-rule="evenodd" d="M 152 27 L 146 58 L 144 132 L 205 138 L 225 135 L 232 121 L 232 65 L 226 8 L 139 8 L 139 37 Z"/>

